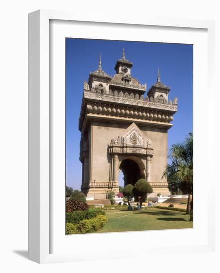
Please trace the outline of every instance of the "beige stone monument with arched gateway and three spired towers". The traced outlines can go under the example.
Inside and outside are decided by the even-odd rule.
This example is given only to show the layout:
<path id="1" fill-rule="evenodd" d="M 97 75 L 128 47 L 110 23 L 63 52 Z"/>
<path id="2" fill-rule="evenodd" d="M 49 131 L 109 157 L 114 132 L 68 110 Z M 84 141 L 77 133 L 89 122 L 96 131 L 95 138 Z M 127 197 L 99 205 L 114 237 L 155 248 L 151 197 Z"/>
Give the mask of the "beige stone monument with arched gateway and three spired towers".
<path id="1" fill-rule="evenodd" d="M 120 171 L 124 185 L 145 178 L 153 187 L 151 196 L 170 194 L 167 179 L 161 177 L 177 98 L 168 99 L 170 88 L 161 82 L 159 70 L 146 95 L 147 84 L 132 77 L 132 66 L 123 50 L 111 77 L 102 70 L 100 57 L 98 69 L 84 82 L 79 118 L 81 190 L 88 197 L 105 199 L 109 189 L 118 193 Z"/>

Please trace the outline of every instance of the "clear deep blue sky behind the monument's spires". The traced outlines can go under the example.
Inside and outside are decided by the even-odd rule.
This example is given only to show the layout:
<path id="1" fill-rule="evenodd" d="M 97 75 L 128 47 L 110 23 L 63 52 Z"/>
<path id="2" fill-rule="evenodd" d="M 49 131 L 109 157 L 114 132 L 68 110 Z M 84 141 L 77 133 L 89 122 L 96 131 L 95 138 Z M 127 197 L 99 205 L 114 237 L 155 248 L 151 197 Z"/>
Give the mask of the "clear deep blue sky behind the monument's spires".
<path id="1" fill-rule="evenodd" d="M 178 97 L 168 147 L 182 142 L 192 131 L 192 45 L 66 38 L 66 183 L 74 189 L 81 187 L 78 119 L 83 82 L 90 71 L 98 69 L 99 52 L 102 69 L 113 76 L 123 47 L 126 59 L 133 62 L 132 76 L 147 83 L 147 91 L 156 82 L 159 67 L 161 82 L 171 87 L 169 99 Z"/>

